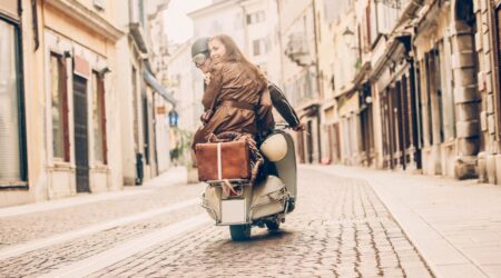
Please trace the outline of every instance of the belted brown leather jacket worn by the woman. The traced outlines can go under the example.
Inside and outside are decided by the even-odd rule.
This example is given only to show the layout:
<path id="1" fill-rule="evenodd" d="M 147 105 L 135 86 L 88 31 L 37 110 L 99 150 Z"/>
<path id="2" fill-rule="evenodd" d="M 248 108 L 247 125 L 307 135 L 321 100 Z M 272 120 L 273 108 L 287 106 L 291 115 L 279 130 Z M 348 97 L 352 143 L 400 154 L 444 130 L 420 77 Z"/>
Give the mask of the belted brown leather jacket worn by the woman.
<path id="1" fill-rule="evenodd" d="M 213 66 L 202 103 L 206 112 L 212 112 L 205 126 L 195 133 L 193 149 L 196 143 L 206 142 L 210 133 L 236 131 L 256 135 L 267 128 L 264 126 L 271 125 L 269 119 L 273 121 L 266 82 L 240 62 L 218 62 Z M 258 120 L 256 111 L 264 115 Z"/>

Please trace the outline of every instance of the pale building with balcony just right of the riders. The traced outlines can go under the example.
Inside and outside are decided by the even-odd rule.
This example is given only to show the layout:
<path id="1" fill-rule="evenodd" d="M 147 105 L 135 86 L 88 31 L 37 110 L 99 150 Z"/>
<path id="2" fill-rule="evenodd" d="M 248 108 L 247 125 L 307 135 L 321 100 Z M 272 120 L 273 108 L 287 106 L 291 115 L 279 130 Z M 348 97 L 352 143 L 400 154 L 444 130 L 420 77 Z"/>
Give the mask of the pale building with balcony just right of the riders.
<path id="1" fill-rule="evenodd" d="M 305 123 L 296 135 L 298 161 L 320 162 L 321 86 L 318 66 L 318 28 L 315 1 L 277 1 L 278 33 L 284 91 Z"/>

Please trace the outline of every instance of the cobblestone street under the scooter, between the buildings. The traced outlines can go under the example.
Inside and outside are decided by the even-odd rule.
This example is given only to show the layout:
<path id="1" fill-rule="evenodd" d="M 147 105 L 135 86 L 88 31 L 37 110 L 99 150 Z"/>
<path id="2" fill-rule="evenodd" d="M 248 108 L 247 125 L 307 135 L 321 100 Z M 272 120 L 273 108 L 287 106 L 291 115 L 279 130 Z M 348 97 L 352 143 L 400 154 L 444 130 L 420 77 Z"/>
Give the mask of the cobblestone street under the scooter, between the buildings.
<path id="1" fill-rule="evenodd" d="M 432 276 L 365 181 L 302 170 L 297 208 L 281 231 L 253 228 L 252 240 L 245 242 L 230 241 L 228 228 L 214 226 L 198 201 L 186 202 L 203 188 L 135 188 L 135 195 L 112 200 L 1 217 L 0 277 Z M 153 212 L 76 234 L 145 211 Z M 191 229 L 183 226 L 175 236 L 156 236 L 197 217 L 203 220 Z M 37 244 L 40 248 L 18 248 Z M 112 254 L 119 258 L 107 257 Z"/>

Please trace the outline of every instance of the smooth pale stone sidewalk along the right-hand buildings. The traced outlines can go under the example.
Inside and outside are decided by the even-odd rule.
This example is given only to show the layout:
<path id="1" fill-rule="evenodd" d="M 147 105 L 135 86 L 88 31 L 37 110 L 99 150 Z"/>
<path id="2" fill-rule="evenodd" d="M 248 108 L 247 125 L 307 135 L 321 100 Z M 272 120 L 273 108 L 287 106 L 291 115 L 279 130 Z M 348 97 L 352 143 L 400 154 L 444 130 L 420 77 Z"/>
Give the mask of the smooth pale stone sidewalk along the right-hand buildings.
<path id="1" fill-rule="evenodd" d="M 367 181 L 434 274 L 501 277 L 501 187 L 343 166 L 305 166 Z"/>

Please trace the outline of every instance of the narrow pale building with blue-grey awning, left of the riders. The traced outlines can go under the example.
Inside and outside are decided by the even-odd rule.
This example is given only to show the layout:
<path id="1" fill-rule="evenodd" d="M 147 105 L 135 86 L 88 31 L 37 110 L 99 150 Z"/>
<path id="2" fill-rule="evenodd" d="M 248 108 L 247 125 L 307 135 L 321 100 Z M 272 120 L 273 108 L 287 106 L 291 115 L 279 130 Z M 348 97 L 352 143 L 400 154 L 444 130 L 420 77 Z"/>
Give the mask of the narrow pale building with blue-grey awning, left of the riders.
<path id="1" fill-rule="evenodd" d="M 120 106 L 121 149 L 125 185 L 139 185 L 169 167 L 169 125 L 165 119 L 175 99 L 161 78 L 165 51 L 161 10 L 169 1 L 134 0 L 121 12 L 120 26 L 127 36 L 119 41 L 120 67 L 117 82 L 122 91 Z M 124 59 L 126 58 L 126 59 Z"/>

